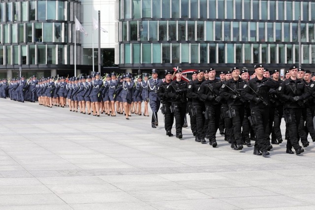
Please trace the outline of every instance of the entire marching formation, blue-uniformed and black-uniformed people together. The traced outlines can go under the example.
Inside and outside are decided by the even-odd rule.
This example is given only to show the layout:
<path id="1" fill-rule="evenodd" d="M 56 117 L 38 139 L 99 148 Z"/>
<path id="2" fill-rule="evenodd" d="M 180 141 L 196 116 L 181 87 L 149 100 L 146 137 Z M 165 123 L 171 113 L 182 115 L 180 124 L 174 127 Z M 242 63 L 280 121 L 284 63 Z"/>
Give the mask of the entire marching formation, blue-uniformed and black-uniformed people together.
<path id="1" fill-rule="evenodd" d="M 283 142 L 280 128 L 285 120 L 286 153 L 300 154 L 309 146 L 308 134 L 315 142 L 313 118 L 315 116 L 315 76 L 309 71 L 291 65 L 284 80 L 280 71 L 269 71 L 262 64 L 246 68 L 233 67 L 220 72 L 209 68 L 192 72 L 189 81 L 179 69 L 165 70 L 164 79 L 158 78 L 158 70 L 132 78 L 130 73 L 118 76 L 115 72 L 100 78 L 100 73 L 87 77 L 43 78 L 32 76 L 0 81 L 0 97 L 11 100 L 38 100 L 46 107 L 69 107 L 99 117 L 100 114 L 115 117 L 116 113 L 129 120 L 131 113 L 149 117 L 152 109 L 152 128 L 158 126 L 158 110 L 165 121 L 167 136 L 173 136 L 175 119 L 176 137 L 183 139 L 182 128 L 190 116 L 190 128 L 195 141 L 217 147 L 219 130 L 233 150 L 251 147 L 254 155 L 269 155 L 272 144 Z M 144 112 L 142 113 L 142 102 Z"/>

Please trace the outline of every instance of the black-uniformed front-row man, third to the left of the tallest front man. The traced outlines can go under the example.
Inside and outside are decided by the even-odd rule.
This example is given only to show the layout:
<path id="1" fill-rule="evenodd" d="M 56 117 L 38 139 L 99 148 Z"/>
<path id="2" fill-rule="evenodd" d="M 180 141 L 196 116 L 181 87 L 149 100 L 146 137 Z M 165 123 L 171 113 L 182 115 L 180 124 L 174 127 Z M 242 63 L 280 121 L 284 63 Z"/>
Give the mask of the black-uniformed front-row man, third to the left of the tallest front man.
<path id="1" fill-rule="evenodd" d="M 195 141 L 205 144 L 206 143 L 204 132 L 205 115 L 202 114 L 205 111 L 205 105 L 204 102 L 199 100 L 198 97 L 199 87 L 205 81 L 205 79 L 203 78 L 204 76 L 203 70 L 198 70 L 196 73 L 197 79 L 189 83 L 187 91 L 187 97 L 191 98 L 192 102 L 192 110 L 189 110 L 189 113 L 190 117 L 193 115 L 196 118 Z"/>

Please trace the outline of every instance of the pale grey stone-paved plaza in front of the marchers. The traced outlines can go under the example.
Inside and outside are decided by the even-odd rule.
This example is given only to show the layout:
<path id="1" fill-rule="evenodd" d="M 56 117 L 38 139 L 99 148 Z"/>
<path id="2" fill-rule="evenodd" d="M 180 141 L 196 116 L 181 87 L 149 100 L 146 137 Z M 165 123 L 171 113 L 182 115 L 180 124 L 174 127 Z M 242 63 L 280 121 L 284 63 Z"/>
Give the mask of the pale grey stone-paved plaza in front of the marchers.
<path id="1" fill-rule="evenodd" d="M 0 209 L 315 209 L 314 143 L 269 157 L 183 140 L 150 118 L 0 99 Z M 284 133 L 284 124 L 283 133 Z M 175 133 L 175 128 L 173 128 Z M 253 142 L 252 142 L 253 144 Z"/>

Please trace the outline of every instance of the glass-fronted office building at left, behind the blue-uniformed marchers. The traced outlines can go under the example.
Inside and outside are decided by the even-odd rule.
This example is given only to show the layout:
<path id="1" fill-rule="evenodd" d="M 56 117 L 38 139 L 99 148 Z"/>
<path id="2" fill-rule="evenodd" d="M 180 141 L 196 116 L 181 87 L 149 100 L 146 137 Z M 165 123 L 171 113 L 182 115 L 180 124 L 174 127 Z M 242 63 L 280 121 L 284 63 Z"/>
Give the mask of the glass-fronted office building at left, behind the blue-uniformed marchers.
<path id="1" fill-rule="evenodd" d="M 73 69 L 77 13 L 77 0 L 0 0 L 0 74 Z"/>

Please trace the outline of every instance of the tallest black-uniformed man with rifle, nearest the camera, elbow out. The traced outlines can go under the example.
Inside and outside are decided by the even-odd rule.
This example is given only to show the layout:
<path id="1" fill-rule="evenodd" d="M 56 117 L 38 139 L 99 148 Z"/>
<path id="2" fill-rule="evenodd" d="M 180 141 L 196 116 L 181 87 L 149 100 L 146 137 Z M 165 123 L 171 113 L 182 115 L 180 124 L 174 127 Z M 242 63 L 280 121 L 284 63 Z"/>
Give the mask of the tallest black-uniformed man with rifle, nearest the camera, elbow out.
<path id="1" fill-rule="evenodd" d="M 268 150 L 272 149 L 270 142 L 267 143 L 269 136 L 269 90 L 270 88 L 277 88 L 279 84 L 271 78 L 263 76 L 264 67 L 262 64 L 256 64 L 254 69 L 256 77 L 244 87 L 242 95 L 250 101 L 251 119 L 256 134 L 253 154 L 266 156 L 269 155 Z"/>

